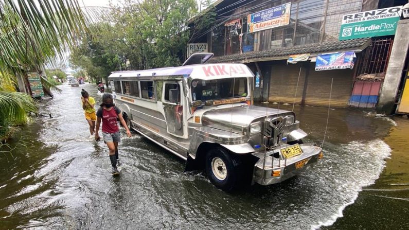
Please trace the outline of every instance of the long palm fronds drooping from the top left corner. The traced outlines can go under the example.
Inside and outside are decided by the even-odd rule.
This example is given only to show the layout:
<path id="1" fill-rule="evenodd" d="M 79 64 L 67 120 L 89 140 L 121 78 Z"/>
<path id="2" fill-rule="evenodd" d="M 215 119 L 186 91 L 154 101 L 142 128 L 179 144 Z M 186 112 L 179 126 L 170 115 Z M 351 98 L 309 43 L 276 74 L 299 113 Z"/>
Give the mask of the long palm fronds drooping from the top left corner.
<path id="1" fill-rule="evenodd" d="M 62 59 L 86 24 L 77 0 L 0 1 L 0 72 Z"/>

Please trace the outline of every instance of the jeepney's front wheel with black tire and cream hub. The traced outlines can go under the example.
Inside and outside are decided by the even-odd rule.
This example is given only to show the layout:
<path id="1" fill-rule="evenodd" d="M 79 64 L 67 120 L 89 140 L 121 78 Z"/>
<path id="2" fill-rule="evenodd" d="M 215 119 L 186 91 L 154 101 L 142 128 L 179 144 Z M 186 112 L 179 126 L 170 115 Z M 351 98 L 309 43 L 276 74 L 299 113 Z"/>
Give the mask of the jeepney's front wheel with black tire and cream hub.
<path id="1" fill-rule="evenodd" d="M 216 168 L 217 163 L 221 164 Z M 241 167 L 242 163 L 239 158 L 221 147 L 211 149 L 206 155 L 206 174 L 210 182 L 223 191 L 233 191 L 239 187 L 243 173 Z M 226 173 L 223 174 L 224 171 Z M 221 174 L 225 175 L 225 177 L 222 178 Z"/>

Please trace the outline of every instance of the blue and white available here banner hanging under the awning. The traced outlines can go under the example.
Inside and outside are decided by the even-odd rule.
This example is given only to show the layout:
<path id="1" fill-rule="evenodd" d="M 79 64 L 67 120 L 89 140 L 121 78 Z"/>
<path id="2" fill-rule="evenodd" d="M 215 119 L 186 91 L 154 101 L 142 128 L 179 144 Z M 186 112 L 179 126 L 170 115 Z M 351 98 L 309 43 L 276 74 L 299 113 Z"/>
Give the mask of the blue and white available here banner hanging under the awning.
<path id="1" fill-rule="evenodd" d="M 315 71 L 346 68 L 352 69 L 356 57 L 354 51 L 319 54 L 317 55 L 315 62 Z"/>

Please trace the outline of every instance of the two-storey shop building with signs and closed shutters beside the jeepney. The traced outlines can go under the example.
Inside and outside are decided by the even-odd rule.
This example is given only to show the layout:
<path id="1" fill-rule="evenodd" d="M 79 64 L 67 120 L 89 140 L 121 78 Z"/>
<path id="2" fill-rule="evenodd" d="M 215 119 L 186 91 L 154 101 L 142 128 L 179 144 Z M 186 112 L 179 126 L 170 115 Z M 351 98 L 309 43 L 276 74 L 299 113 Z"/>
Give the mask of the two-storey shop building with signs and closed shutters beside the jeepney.
<path id="1" fill-rule="evenodd" d="M 406 0 L 219 0 L 207 9 L 216 13 L 215 22 L 209 28 L 195 31 L 191 43 L 206 44 L 205 51 L 215 54 L 211 62 L 247 64 L 256 73 L 256 101 L 328 105 L 331 93 L 333 106 L 374 108 L 381 89 L 389 100 L 390 95 L 399 91 L 400 79 L 399 83 L 389 80 L 384 83 L 388 79 L 389 60 L 395 57 L 392 56 L 395 27 L 370 33 L 369 25 L 365 29 L 364 22 L 355 24 L 359 17 L 367 16 L 364 21 L 383 17 L 378 14 L 388 11 L 374 10 L 385 8 L 390 8 L 387 20 L 392 24 L 399 21 L 398 13 L 394 12 L 401 8 L 396 6 L 406 3 Z M 205 13 L 191 20 L 192 31 Z M 348 33 L 350 28 L 353 34 Z M 330 54 L 333 52 L 337 54 Z M 318 64 L 329 60 L 324 60 L 325 55 L 330 59 L 343 58 L 345 65 L 321 70 Z"/>

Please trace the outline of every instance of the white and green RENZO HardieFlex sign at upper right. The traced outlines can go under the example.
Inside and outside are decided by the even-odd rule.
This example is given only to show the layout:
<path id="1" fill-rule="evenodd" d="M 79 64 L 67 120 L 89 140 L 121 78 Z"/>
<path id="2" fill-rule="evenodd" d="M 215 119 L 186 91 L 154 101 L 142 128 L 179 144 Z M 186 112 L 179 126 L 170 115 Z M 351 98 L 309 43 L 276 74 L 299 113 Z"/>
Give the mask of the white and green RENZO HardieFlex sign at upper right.
<path id="1" fill-rule="evenodd" d="M 342 16 L 340 41 L 393 35 L 402 6 L 351 13 Z"/>

